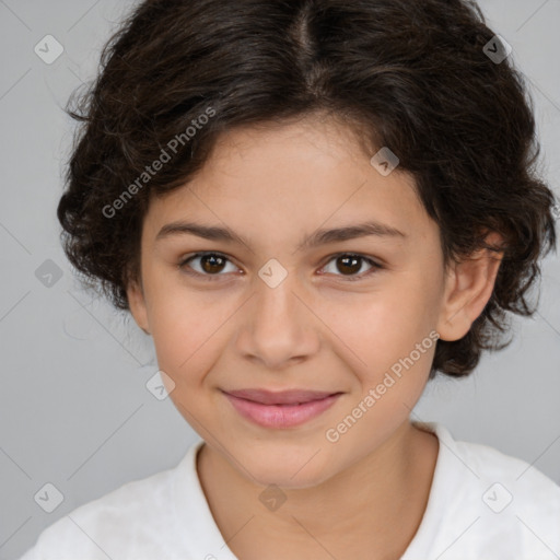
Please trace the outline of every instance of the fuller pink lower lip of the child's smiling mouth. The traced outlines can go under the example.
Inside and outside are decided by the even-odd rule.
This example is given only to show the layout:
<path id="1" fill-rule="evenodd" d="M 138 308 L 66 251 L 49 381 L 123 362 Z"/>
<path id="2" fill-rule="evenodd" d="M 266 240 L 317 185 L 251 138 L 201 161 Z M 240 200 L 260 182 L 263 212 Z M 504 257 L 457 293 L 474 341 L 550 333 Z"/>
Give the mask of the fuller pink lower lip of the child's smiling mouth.
<path id="1" fill-rule="evenodd" d="M 340 395 L 339 393 L 301 405 L 261 405 L 225 394 L 241 416 L 265 428 L 291 428 L 303 424 L 330 408 Z"/>

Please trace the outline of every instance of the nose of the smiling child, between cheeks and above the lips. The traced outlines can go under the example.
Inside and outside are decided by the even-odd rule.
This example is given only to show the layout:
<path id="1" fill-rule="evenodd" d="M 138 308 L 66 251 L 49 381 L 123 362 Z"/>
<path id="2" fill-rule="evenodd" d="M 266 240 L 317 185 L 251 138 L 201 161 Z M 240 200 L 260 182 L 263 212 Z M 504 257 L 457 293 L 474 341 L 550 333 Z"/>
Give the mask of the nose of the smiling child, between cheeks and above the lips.
<path id="1" fill-rule="evenodd" d="M 245 359 L 258 361 L 269 370 L 314 355 L 320 345 L 318 319 L 305 301 L 296 275 L 289 273 L 276 287 L 260 278 L 255 280 L 256 293 L 242 315 L 237 350 Z"/>

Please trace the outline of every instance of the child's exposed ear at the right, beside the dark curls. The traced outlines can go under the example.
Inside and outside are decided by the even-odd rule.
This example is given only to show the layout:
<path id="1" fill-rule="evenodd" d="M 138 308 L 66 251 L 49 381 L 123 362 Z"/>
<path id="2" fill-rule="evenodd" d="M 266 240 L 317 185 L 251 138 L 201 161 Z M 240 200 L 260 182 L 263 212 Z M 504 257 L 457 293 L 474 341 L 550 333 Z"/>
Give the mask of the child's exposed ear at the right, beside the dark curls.
<path id="1" fill-rule="evenodd" d="M 500 246 L 502 241 L 497 232 L 485 238 L 491 246 Z M 481 248 L 467 259 L 450 265 L 438 322 L 442 340 L 459 340 L 469 331 L 492 295 L 502 258 L 503 250 Z"/>

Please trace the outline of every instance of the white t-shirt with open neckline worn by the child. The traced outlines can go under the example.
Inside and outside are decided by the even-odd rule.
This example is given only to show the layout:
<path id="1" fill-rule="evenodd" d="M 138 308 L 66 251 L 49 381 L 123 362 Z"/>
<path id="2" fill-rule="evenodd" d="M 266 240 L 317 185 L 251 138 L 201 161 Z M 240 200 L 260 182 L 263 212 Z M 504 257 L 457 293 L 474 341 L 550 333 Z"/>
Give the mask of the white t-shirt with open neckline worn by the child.
<path id="1" fill-rule="evenodd" d="M 457 442 L 438 422 L 428 506 L 401 560 L 559 560 L 560 486 L 527 463 Z M 196 469 L 182 462 L 77 508 L 21 560 L 237 560 L 210 512 Z"/>

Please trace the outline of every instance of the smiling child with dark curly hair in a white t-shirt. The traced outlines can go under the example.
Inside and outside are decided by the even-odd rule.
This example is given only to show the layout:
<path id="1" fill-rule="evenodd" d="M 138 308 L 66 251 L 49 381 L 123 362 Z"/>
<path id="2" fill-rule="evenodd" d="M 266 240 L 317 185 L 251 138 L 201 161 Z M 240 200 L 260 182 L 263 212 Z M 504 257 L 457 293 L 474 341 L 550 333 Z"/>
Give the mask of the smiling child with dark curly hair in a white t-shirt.
<path id="1" fill-rule="evenodd" d="M 201 439 L 24 560 L 560 557 L 560 487 L 410 419 L 555 247 L 508 55 L 466 0 L 138 5 L 58 218 Z"/>

